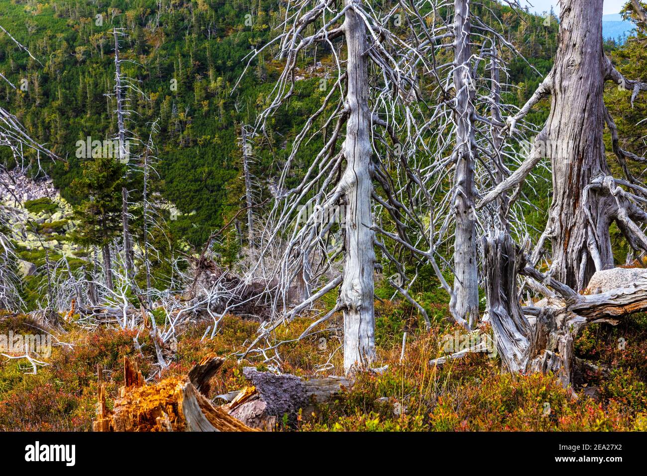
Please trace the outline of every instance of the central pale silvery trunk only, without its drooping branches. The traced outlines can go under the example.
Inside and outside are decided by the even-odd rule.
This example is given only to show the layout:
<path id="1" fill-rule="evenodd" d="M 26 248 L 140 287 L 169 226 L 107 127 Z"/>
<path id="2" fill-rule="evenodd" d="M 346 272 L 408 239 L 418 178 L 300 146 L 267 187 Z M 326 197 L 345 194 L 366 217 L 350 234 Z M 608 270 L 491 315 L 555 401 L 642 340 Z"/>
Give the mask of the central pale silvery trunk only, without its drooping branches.
<path id="1" fill-rule="evenodd" d="M 345 5 L 353 5 L 345 0 Z M 344 154 L 342 177 L 345 201 L 345 262 L 340 304 L 344 309 L 344 369 L 367 368 L 375 358 L 375 315 L 373 314 L 373 268 L 375 250 L 371 230 L 371 111 L 368 107 L 368 60 L 366 25 L 352 8 L 344 20 L 348 55 Z"/>

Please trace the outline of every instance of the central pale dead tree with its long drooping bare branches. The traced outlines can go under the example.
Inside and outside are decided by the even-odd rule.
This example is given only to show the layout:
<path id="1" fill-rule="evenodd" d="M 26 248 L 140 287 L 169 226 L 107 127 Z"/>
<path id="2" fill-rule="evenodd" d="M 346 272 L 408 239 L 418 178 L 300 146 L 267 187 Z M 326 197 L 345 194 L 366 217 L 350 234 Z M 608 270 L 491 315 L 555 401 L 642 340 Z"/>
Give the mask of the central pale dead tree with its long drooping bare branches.
<path id="1" fill-rule="evenodd" d="M 435 35 L 446 31 L 426 30 L 415 6 L 393 2 L 392 8 L 384 6 L 375 11 L 371 4 L 357 0 L 296 2 L 286 12 L 283 32 L 252 54 L 259 56 L 278 41 L 280 58 L 285 61 L 273 100 L 259 118 L 261 128 L 265 119 L 294 95 L 294 71 L 302 52 L 315 45 L 327 47 L 337 76 L 333 87 L 326 90 L 322 106 L 307 119 L 292 144 L 276 187 L 277 199 L 259 244 L 261 255 L 276 249 L 275 244 L 281 240 L 285 245 L 281 246 L 279 259 L 274 261 L 276 266 L 265 267 L 261 256 L 250 275 L 262 274 L 273 286 L 269 294 L 277 297 L 274 308 L 278 318 L 261 326 L 258 338 L 245 355 L 248 352 L 265 355 L 267 349 L 263 345 L 272 330 L 339 287 L 336 306 L 317 319 L 309 331 L 335 312 L 343 312 L 345 371 L 368 368 L 375 358 L 374 247 L 380 247 L 395 267 L 402 269 L 377 240 L 375 232 L 409 247 L 413 245 L 402 221 L 394 220 L 397 231 L 392 234 L 375 223 L 373 211 L 375 207 L 386 209 L 395 218 L 410 217 L 422 226 L 408 206 L 397 199 L 388 173 L 382 174 L 380 169 L 386 170 L 384 159 L 393 157 L 399 158 L 406 169 L 406 159 L 415 155 L 415 148 L 426 148 L 421 139 L 422 115 L 416 89 L 417 68 L 424 65 L 425 59 L 417 47 L 432 44 Z M 395 18 L 402 26 L 397 33 L 389 30 Z M 313 30 L 314 34 L 305 36 L 306 31 Z M 342 59 L 344 49 L 345 59 Z M 322 150 L 305 176 L 300 177 L 301 185 L 285 190 L 302 142 L 316 135 L 313 127 L 324 114 L 327 119 L 322 120 Z M 409 177 L 410 185 L 417 186 L 413 183 L 415 174 L 411 172 Z M 383 188 L 386 199 L 375 192 L 374 180 Z M 401 192 L 406 194 L 406 190 Z M 340 260 L 343 260 L 341 276 L 338 275 Z M 306 267 L 305 262 L 313 266 Z M 324 277 L 327 284 L 286 311 L 289 291 L 296 280 L 306 280 L 308 285 L 316 287 Z M 270 348 L 276 349 L 276 346 Z"/>

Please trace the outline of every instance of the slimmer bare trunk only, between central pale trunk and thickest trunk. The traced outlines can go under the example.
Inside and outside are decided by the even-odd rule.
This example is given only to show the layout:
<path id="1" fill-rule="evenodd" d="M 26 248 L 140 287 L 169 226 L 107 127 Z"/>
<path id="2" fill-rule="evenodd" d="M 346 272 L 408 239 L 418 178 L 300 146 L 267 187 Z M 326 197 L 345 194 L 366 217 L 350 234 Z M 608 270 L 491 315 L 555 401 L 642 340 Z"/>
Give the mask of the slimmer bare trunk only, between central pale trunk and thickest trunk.
<path id="1" fill-rule="evenodd" d="M 456 232 L 454 240 L 454 312 L 472 328 L 479 312 L 476 213 L 474 210 L 474 85 L 470 58 L 470 0 L 454 0 L 454 149 Z"/>

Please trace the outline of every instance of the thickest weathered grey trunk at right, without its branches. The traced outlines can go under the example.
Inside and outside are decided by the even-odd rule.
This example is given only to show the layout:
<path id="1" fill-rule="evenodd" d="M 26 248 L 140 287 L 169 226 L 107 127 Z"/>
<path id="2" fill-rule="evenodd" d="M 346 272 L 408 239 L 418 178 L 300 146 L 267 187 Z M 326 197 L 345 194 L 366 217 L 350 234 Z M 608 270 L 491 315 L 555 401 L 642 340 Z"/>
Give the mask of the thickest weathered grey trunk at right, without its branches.
<path id="1" fill-rule="evenodd" d="M 610 174 L 602 142 L 602 0 L 566 0 L 560 19 L 551 113 L 544 129 L 553 166 L 547 229 L 553 276 L 583 289 L 597 269 L 613 267 L 609 226 L 615 200 L 586 190 L 592 177 Z"/>

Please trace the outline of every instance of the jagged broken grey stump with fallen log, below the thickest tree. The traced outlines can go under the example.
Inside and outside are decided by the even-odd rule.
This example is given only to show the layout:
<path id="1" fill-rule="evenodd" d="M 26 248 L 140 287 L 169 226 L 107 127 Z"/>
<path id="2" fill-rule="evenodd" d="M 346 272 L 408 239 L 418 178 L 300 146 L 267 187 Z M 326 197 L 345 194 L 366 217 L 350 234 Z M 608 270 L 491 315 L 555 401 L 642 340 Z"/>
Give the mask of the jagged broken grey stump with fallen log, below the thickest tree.
<path id="1" fill-rule="evenodd" d="M 483 250 L 487 313 L 496 349 L 510 372 L 550 372 L 568 387 L 575 370 L 574 342 L 587 324 L 617 324 L 619 317 L 647 309 L 647 276 L 622 280 L 621 276 L 630 276 L 631 270 L 616 268 L 613 272 L 623 287 L 580 295 L 526 266 L 521 251 L 505 232 L 488 234 Z M 547 305 L 541 308 L 522 308 L 516 286 L 518 274 L 543 282 L 560 297 L 547 299 Z"/>

